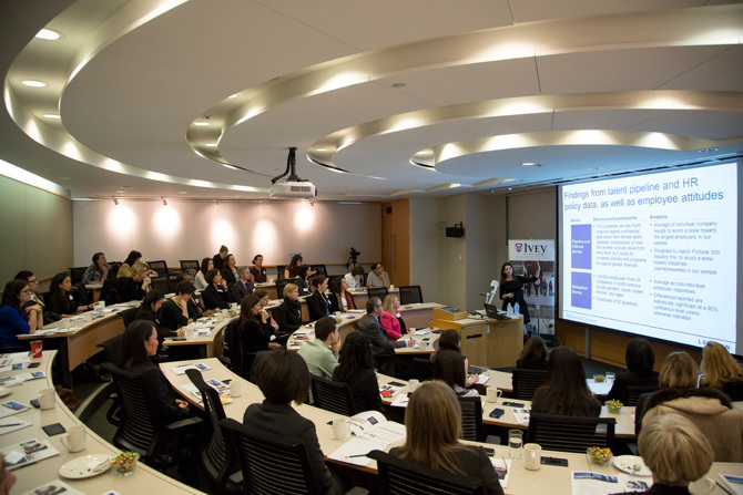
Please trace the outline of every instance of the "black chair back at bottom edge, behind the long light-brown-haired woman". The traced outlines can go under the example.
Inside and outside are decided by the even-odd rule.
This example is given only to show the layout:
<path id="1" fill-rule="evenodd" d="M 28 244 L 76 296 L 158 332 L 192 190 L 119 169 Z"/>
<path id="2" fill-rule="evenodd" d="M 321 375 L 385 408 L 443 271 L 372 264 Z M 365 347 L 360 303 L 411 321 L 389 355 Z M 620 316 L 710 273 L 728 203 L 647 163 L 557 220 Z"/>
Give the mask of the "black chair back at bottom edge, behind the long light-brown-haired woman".
<path id="1" fill-rule="evenodd" d="M 368 457 L 377 462 L 379 493 L 410 495 L 485 495 L 486 493 L 482 479 L 430 470 L 381 451 L 372 451 Z"/>

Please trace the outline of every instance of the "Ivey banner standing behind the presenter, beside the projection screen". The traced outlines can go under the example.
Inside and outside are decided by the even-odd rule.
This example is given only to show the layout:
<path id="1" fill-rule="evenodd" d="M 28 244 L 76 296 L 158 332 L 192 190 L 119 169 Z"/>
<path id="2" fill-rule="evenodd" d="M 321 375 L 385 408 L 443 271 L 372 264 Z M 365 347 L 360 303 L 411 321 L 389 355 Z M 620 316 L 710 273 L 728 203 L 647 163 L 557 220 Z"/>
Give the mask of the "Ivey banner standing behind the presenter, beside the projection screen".
<path id="1" fill-rule="evenodd" d="M 554 240 L 509 239 L 508 256 L 516 276 L 531 277 L 540 270 L 537 281 L 523 285 L 523 300 L 536 333 L 554 333 Z"/>

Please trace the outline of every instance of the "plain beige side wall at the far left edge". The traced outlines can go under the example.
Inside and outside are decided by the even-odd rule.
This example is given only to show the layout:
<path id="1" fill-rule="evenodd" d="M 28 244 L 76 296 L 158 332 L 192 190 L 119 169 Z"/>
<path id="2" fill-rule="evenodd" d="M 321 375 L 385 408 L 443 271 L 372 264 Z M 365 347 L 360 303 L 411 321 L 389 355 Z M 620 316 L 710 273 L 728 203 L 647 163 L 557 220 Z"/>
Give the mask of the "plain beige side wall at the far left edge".
<path id="1" fill-rule="evenodd" d="M 0 281 L 43 279 L 72 266 L 72 202 L 0 175 Z"/>

